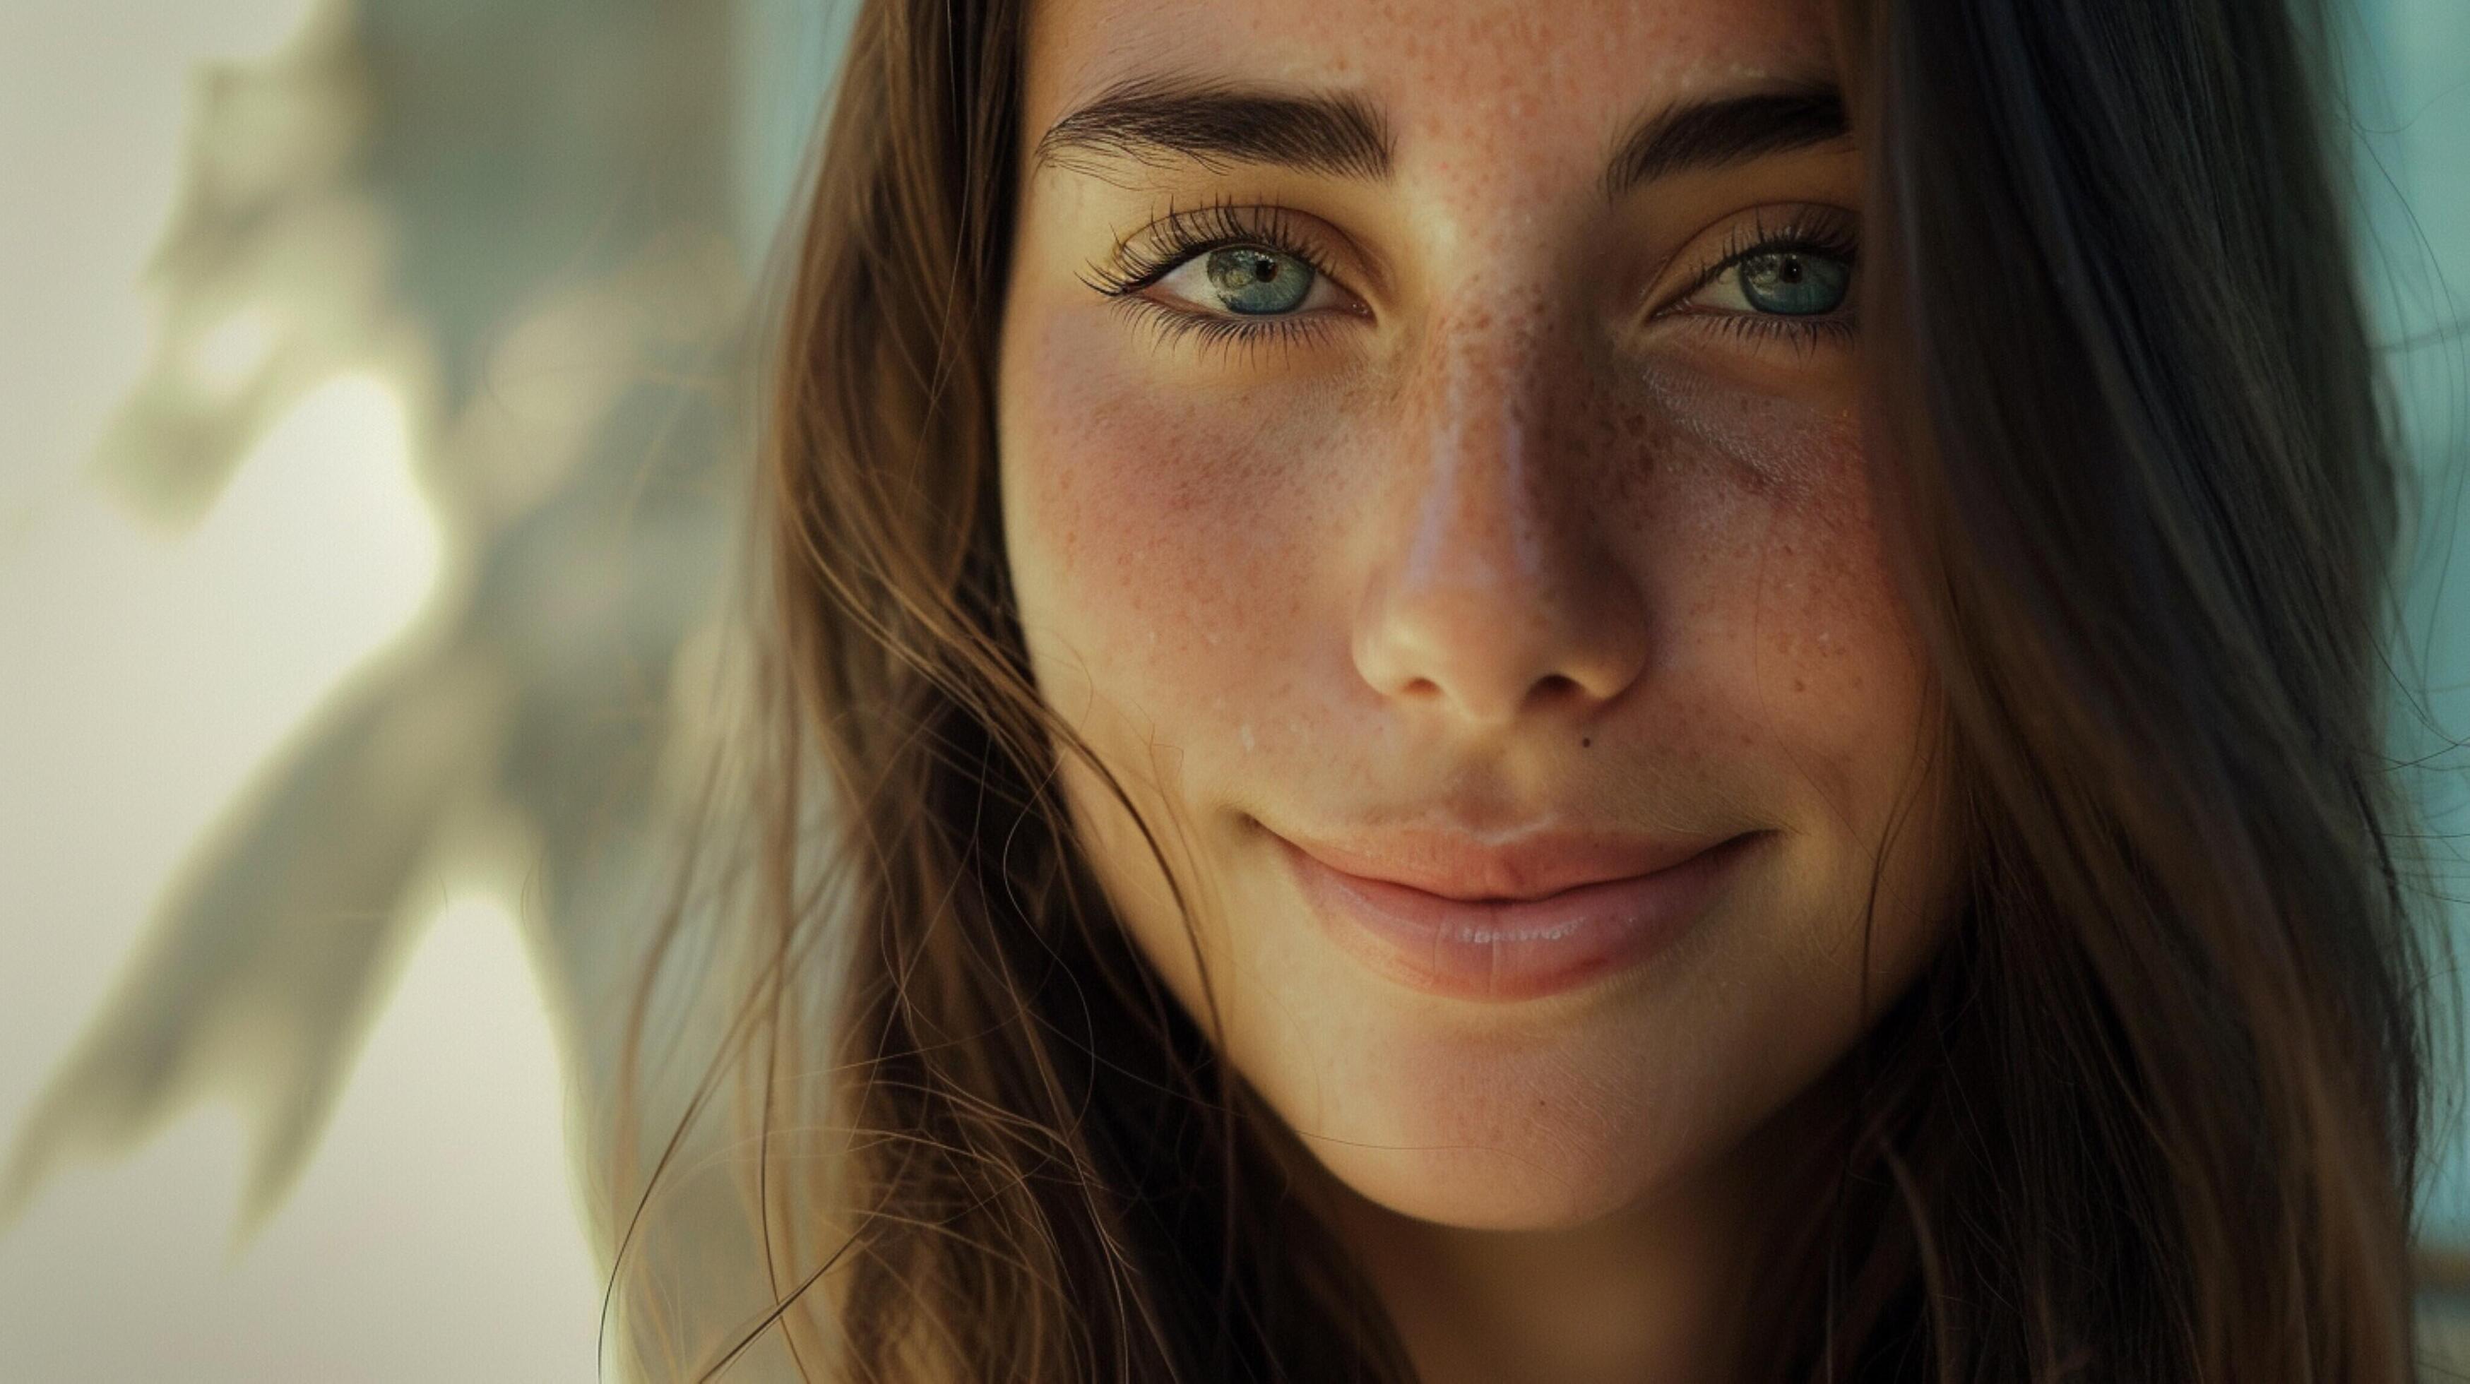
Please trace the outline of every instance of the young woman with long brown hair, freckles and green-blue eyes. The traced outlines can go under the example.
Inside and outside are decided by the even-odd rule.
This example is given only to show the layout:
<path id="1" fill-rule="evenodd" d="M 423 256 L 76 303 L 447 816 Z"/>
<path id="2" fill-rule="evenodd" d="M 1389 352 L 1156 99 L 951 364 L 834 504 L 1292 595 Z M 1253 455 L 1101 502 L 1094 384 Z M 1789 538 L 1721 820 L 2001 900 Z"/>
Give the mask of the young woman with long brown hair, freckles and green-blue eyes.
<path id="1" fill-rule="evenodd" d="M 766 1300 L 647 1369 L 2406 1379 L 2319 52 L 865 5 L 716 1073 Z"/>

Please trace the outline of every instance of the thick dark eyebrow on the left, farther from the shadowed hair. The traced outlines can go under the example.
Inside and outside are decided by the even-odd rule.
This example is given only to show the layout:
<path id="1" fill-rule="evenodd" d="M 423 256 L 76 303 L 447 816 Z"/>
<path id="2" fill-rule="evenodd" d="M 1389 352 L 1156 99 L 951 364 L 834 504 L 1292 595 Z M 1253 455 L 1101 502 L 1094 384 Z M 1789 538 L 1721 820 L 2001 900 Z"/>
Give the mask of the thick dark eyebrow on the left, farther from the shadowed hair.
<path id="1" fill-rule="evenodd" d="M 1134 79 L 1055 121 L 1032 166 L 1097 173 L 1092 158 L 1279 163 L 1341 178 L 1388 178 L 1391 131 L 1351 94 L 1272 91 L 1188 79 Z"/>

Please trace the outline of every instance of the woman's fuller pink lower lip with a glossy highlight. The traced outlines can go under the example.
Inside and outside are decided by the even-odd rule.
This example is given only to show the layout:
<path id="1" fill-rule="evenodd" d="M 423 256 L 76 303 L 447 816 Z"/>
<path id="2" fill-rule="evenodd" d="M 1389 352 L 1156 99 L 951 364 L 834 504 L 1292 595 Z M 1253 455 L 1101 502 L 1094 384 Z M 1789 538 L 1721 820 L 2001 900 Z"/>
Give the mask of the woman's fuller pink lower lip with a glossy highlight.
<path id="1" fill-rule="evenodd" d="M 1329 934 L 1413 989 L 1482 1001 L 1573 991 L 1625 971 L 1689 929 L 1759 833 L 1680 865 L 1544 900 L 1470 902 L 1334 870 L 1279 838 Z"/>

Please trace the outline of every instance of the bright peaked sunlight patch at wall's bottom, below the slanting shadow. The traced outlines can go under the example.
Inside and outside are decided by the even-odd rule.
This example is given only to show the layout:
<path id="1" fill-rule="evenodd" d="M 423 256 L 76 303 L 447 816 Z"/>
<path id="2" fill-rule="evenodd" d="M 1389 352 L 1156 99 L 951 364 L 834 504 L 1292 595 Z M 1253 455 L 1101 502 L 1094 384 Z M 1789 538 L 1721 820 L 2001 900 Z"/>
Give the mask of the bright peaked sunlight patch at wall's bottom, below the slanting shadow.
<path id="1" fill-rule="evenodd" d="M 452 895 L 259 1238 L 232 1246 L 242 1139 L 217 1107 L 62 1176 L 0 1238 L 5 1377 L 593 1379 L 561 1095 L 514 917 Z"/>

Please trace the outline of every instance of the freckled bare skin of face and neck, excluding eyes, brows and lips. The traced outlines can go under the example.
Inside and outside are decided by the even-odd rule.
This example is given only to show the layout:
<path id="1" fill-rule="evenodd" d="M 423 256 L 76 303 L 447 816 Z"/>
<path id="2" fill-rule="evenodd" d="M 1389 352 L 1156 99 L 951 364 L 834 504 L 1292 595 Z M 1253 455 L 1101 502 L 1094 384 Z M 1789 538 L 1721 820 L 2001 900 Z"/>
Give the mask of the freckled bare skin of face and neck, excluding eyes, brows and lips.
<path id="1" fill-rule="evenodd" d="M 1354 94 L 1393 168 L 1035 161 L 1134 77 Z M 1141 952 L 1317 1157 L 1428 1379 L 1722 1377 L 1793 1102 L 1949 912 L 1857 331 L 1759 336 L 1692 289 L 1761 225 L 1857 225 L 1860 151 L 1603 185 L 1643 111 L 1833 77 L 1825 12 L 1788 0 L 1032 15 L 1010 568 L 1042 694 L 1158 833 L 1191 927 L 1067 764 L 1074 818 Z M 1203 341 L 1161 329 L 1173 299 L 1084 282 L 1210 203 L 1275 205 L 1321 257 L 1307 331 Z M 1645 964 L 1487 1003 L 1341 949 L 1270 835 L 1388 825 L 1764 835 Z"/>

